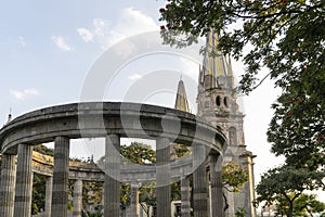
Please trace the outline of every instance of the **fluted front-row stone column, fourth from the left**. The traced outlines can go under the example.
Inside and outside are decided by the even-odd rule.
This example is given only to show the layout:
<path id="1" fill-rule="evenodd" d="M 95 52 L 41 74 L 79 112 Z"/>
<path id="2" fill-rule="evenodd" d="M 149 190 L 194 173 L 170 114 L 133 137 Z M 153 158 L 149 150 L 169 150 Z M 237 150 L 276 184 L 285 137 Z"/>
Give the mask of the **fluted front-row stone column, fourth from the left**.
<path id="1" fill-rule="evenodd" d="M 108 135 L 105 144 L 104 217 L 119 216 L 120 137 Z"/>

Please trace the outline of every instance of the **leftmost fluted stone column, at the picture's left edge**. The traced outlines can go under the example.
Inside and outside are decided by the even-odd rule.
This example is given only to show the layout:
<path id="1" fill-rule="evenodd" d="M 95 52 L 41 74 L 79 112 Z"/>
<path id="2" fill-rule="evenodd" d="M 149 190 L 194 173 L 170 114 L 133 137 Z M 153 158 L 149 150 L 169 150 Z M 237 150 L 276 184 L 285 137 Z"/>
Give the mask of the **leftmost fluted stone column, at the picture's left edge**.
<path id="1" fill-rule="evenodd" d="M 13 217 L 16 182 L 16 155 L 2 154 L 1 164 L 0 216 Z"/>

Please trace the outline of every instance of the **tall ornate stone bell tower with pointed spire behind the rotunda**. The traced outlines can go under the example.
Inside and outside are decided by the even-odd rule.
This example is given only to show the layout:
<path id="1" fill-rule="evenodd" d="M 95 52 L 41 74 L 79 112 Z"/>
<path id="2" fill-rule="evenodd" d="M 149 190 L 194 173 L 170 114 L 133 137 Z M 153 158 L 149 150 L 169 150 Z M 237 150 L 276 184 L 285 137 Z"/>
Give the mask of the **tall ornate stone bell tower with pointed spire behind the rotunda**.
<path id="1" fill-rule="evenodd" d="M 239 193 L 224 192 L 229 208 L 226 216 L 235 216 L 238 208 L 245 208 L 246 216 L 255 217 L 253 163 L 255 157 L 246 150 L 244 140 L 244 114 L 239 111 L 234 87 L 234 76 L 230 59 L 218 50 L 219 35 L 210 29 L 199 68 L 197 115 L 222 130 L 227 138 L 223 163 L 232 162 L 246 169 L 249 180 Z"/>

